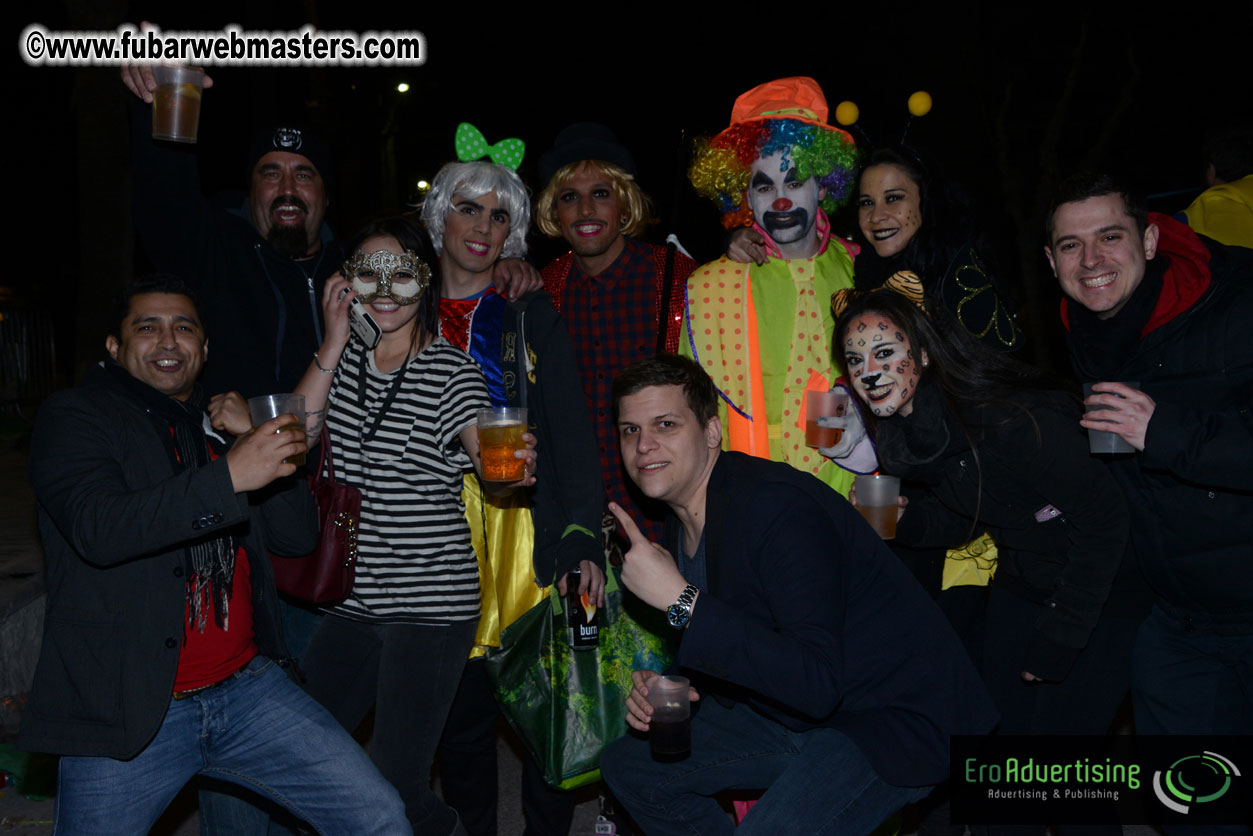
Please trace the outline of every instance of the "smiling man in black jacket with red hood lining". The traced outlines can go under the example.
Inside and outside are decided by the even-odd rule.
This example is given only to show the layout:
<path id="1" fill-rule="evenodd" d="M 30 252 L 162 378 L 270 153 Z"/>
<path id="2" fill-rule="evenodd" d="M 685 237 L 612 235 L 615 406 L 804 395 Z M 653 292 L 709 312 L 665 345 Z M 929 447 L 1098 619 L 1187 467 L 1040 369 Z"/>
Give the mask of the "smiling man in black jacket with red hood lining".
<path id="1" fill-rule="evenodd" d="M 1148 213 L 1106 175 L 1074 177 L 1045 254 L 1081 421 L 1110 461 L 1155 602 L 1131 661 L 1141 733 L 1253 733 L 1253 251 Z M 1129 381 L 1114 382 L 1114 381 Z"/>

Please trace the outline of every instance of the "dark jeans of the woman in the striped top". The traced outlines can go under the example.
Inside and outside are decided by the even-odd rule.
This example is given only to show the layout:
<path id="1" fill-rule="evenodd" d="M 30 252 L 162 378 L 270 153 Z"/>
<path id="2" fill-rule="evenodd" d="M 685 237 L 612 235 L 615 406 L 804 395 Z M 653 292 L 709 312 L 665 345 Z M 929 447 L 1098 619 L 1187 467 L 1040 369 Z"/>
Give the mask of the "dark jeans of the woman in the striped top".
<path id="1" fill-rule="evenodd" d="M 457 823 L 457 813 L 431 790 L 431 763 L 476 627 L 327 615 L 304 654 L 306 691 L 341 726 L 355 731 L 373 707 L 371 757 L 400 791 L 419 833 L 442 836 Z"/>

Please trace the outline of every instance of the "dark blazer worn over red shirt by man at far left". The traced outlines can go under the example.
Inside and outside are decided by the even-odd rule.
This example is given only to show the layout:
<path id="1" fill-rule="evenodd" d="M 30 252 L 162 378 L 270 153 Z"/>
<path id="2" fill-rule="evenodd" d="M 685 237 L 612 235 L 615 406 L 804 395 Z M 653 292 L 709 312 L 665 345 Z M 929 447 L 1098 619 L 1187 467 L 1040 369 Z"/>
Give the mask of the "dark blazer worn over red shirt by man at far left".
<path id="1" fill-rule="evenodd" d="M 254 504 L 234 493 L 224 456 L 175 474 L 167 445 L 101 368 L 39 411 L 30 478 L 48 610 L 18 738 L 26 751 L 129 758 L 149 743 L 174 687 L 192 540 L 229 529 L 243 541 L 258 651 L 286 656 L 266 553 L 313 550 L 308 488 L 289 480 Z"/>

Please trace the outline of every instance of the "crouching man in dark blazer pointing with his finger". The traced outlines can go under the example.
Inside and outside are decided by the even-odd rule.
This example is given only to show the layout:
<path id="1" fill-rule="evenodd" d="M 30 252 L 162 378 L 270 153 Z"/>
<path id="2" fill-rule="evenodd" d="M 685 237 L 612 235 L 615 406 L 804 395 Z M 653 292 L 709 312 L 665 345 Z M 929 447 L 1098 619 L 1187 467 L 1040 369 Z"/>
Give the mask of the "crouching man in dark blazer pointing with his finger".
<path id="1" fill-rule="evenodd" d="M 682 635 L 699 711 L 685 760 L 655 762 L 626 736 L 600 767 L 649 836 L 729 835 L 714 796 L 732 788 L 767 791 L 743 832 L 868 833 L 945 780 L 951 734 L 991 729 L 991 699 L 944 615 L 840 494 L 722 451 L 717 397 L 673 355 L 614 381 L 626 473 L 673 513 L 663 545 L 610 505 L 632 541 L 621 580 Z M 640 732 L 654 676 L 633 674 L 626 722 Z"/>

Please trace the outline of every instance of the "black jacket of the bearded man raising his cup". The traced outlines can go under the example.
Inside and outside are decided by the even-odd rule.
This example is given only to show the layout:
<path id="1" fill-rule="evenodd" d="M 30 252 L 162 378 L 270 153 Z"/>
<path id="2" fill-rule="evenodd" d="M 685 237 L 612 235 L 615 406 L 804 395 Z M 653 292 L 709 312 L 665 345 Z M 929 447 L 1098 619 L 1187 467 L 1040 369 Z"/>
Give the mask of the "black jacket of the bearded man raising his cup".
<path id="1" fill-rule="evenodd" d="M 150 109 L 132 105 L 134 217 L 157 269 L 188 281 L 213 338 L 200 385 L 209 395 L 291 392 L 322 345 L 322 288 L 343 249 L 322 228 L 309 261 L 276 253 L 247 202 L 223 211 L 200 194 L 195 155 L 153 142 Z"/>

